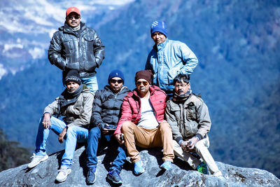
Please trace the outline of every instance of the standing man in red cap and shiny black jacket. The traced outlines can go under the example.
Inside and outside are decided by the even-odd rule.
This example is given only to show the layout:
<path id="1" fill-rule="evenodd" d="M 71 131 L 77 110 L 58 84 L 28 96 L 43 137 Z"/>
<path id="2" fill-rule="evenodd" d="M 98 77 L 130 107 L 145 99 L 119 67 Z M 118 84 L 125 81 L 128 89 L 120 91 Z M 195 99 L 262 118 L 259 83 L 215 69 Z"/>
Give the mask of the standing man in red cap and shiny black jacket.
<path id="1" fill-rule="evenodd" d="M 50 41 L 48 60 L 62 69 L 62 81 L 66 69 L 78 70 L 83 84 L 91 92 L 98 90 L 95 68 L 100 67 L 104 59 L 104 45 L 97 32 L 80 22 L 80 11 L 70 7 L 66 11 L 64 26 L 59 27 Z"/>

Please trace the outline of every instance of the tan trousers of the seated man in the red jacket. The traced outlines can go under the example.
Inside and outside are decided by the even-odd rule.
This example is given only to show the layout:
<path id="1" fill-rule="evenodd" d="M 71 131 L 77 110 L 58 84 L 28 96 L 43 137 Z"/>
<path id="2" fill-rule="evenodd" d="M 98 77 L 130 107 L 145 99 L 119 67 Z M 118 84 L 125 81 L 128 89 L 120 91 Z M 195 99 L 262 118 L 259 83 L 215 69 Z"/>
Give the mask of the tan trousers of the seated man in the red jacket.
<path id="1" fill-rule="evenodd" d="M 122 132 L 125 139 L 125 146 L 127 147 L 127 154 L 130 156 L 132 162 L 137 162 L 141 159 L 136 146 L 142 148 L 163 146 L 162 160 L 164 162 L 166 160 L 173 162 L 172 130 L 167 121 L 160 123 L 157 128 L 152 130 L 138 127 L 131 121 L 126 121 L 123 123 Z"/>

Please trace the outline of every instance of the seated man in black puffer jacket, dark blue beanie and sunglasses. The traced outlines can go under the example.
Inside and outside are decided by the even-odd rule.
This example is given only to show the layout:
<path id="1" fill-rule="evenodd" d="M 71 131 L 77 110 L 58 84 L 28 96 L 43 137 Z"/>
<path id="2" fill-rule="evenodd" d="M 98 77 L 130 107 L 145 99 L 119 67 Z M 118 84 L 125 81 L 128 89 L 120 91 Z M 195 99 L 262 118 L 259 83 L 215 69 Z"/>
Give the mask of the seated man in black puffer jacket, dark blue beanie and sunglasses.
<path id="1" fill-rule="evenodd" d="M 125 146 L 120 146 L 113 136 L 113 132 L 118 124 L 120 106 L 123 104 L 123 97 L 130 90 L 123 86 L 125 78 L 123 73 L 114 70 L 109 74 L 108 82 L 103 90 L 97 90 L 92 104 L 92 129 L 87 139 L 87 183 L 92 184 L 95 181 L 97 170 L 97 147 L 99 141 L 106 142 L 111 153 L 117 151 L 116 159 L 113 160 L 108 179 L 113 183 L 123 183 L 120 178 L 120 170 L 125 163 Z"/>

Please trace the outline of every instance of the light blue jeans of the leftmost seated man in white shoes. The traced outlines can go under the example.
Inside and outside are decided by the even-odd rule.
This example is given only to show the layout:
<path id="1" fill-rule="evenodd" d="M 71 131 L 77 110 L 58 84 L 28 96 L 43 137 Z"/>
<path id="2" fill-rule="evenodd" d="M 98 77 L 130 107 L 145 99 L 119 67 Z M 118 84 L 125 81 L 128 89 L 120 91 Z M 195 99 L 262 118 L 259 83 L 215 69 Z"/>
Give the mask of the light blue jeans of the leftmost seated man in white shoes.
<path id="1" fill-rule="evenodd" d="M 59 120 L 55 117 L 50 118 L 50 128 L 45 129 L 43 127 L 43 117 L 40 119 L 38 133 L 36 137 L 36 155 L 46 155 L 45 151 L 45 144 L 47 143 L 48 134 L 50 129 L 55 132 L 55 134 L 59 135 L 64 127 L 66 127 L 66 123 L 64 121 Z M 73 155 L 75 153 L 77 141 L 79 143 L 83 143 L 87 141 L 88 137 L 88 130 L 83 127 L 72 126 L 69 127 L 66 136 L 64 139 L 65 141 L 65 153 L 62 156 L 62 165 L 65 165 L 67 168 L 71 167 Z"/>

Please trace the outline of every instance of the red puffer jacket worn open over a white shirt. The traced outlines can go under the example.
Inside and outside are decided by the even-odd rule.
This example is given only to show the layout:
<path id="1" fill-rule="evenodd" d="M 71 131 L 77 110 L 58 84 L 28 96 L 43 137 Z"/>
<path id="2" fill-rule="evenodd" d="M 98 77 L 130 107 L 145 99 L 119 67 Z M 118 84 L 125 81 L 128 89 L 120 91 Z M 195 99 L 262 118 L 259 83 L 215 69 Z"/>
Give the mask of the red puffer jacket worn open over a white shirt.
<path id="1" fill-rule="evenodd" d="M 150 86 L 150 101 L 155 113 L 155 118 L 158 123 L 162 123 L 165 119 L 165 106 L 166 106 L 167 95 L 163 90 L 160 90 L 158 86 Z M 141 100 L 137 90 L 128 92 L 123 99 L 122 115 L 118 121 L 118 126 L 114 134 L 120 134 L 120 129 L 125 121 L 131 121 L 137 124 L 141 118 Z"/>

